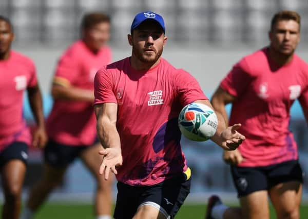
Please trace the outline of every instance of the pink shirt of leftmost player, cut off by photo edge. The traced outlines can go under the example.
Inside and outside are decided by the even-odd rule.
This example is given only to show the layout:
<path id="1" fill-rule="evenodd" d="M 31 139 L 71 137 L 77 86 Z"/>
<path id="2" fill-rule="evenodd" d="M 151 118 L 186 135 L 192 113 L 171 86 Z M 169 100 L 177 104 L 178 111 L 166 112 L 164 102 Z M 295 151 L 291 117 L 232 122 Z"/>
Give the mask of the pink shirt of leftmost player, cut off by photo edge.
<path id="1" fill-rule="evenodd" d="M 10 51 L 0 61 L 0 151 L 13 142 L 30 144 L 31 135 L 23 116 L 24 91 L 37 84 L 30 58 Z"/>

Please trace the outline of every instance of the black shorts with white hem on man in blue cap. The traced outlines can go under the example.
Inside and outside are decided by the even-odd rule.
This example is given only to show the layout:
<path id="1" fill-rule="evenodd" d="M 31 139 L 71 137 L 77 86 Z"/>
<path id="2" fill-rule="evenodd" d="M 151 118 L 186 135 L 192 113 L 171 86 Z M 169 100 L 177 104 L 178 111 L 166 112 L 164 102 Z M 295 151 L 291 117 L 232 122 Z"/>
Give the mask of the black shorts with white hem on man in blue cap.
<path id="1" fill-rule="evenodd" d="M 157 185 L 139 187 L 118 182 L 117 187 L 115 219 L 131 219 L 143 205 L 151 205 L 166 218 L 174 218 L 190 191 L 190 178 L 185 181 L 179 176 Z"/>

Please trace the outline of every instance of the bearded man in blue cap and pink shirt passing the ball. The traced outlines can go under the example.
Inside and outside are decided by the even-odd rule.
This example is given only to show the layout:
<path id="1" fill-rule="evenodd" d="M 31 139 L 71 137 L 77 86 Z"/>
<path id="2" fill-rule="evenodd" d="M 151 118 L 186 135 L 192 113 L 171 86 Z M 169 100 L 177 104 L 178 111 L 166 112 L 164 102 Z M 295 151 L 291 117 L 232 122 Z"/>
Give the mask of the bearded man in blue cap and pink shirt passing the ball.
<path id="1" fill-rule="evenodd" d="M 192 102 L 211 107 L 188 72 L 161 58 L 167 42 L 162 16 L 137 14 L 128 34 L 130 57 L 100 69 L 94 79 L 97 129 L 105 149 L 100 173 L 117 175 L 115 219 L 174 218 L 190 188 L 190 169 L 181 150 L 178 116 Z M 219 116 L 212 138 L 225 150 L 244 140 L 225 129 Z"/>

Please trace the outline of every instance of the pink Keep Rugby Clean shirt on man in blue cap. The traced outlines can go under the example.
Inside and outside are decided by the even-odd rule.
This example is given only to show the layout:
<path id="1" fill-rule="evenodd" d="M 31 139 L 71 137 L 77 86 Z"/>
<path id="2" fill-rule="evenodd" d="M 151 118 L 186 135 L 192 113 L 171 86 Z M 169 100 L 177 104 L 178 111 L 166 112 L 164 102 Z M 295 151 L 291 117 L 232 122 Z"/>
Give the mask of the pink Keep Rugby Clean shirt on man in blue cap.
<path id="1" fill-rule="evenodd" d="M 194 77 L 163 58 L 148 71 L 137 71 L 127 57 L 99 70 L 94 95 L 95 105 L 118 104 L 123 155 L 118 181 L 155 185 L 189 171 L 180 145 L 178 115 L 185 105 L 207 99 Z M 186 175 L 190 177 L 190 172 Z"/>

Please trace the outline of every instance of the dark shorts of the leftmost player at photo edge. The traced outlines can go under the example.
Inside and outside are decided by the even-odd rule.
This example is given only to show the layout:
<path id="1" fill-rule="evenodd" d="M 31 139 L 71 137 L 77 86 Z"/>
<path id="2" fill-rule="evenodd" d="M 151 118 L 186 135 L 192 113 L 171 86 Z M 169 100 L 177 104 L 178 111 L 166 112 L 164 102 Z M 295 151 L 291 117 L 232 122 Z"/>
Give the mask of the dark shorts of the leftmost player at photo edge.
<path id="1" fill-rule="evenodd" d="M 28 145 L 24 142 L 13 142 L 0 152 L 0 168 L 10 160 L 21 160 L 27 165 Z"/>

